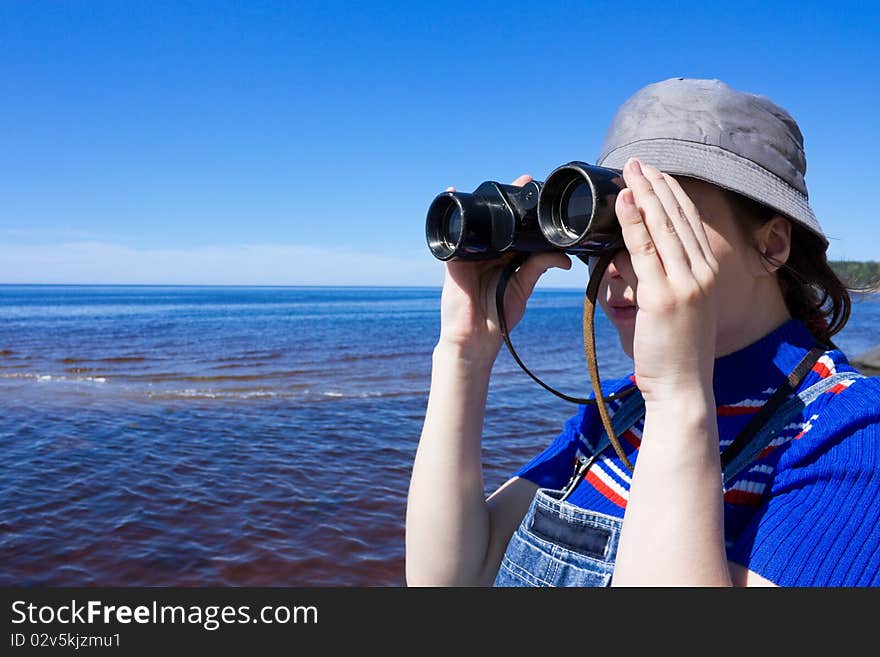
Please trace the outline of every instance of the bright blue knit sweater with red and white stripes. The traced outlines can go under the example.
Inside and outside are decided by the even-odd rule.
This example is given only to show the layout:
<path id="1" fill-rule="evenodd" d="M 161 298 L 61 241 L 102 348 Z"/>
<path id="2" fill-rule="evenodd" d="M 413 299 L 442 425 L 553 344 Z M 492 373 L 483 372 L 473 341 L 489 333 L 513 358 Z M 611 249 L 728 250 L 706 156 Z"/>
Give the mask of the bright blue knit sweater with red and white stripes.
<path id="1" fill-rule="evenodd" d="M 815 340 L 790 320 L 715 361 L 719 450 L 794 369 Z M 827 351 L 800 389 L 856 371 Z M 605 394 L 633 385 L 603 384 Z M 610 412 L 621 402 L 612 403 Z M 643 421 L 621 436 L 638 459 Z M 595 406 L 581 406 L 553 443 L 516 475 L 560 489 L 601 434 Z M 569 502 L 622 518 L 630 473 L 612 450 L 593 465 Z M 844 379 L 796 416 L 760 457 L 724 488 L 727 556 L 780 586 L 880 586 L 880 377 Z"/>

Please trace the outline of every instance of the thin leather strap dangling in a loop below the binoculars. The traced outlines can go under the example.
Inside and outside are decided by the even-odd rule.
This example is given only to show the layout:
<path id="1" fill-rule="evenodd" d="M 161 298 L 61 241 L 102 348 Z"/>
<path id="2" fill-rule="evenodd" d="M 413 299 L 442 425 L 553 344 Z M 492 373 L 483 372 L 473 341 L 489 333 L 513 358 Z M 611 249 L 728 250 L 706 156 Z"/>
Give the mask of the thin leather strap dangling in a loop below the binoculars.
<path id="1" fill-rule="evenodd" d="M 510 278 L 526 261 L 528 255 L 529 254 L 525 252 L 517 253 L 516 256 L 502 270 L 501 276 L 498 279 L 498 285 L 495 288 L 495 310 L 497 311 L 498 315 L 498 328 L 501 331 L 501 337 L 504 339 L 504 344 L 507 345 L 507 349 L 510 352 L 510 355 L 513 356 L 513 359 L 516 361 L 517 365 L 519 365 L 522 370 L 526 374 L 528 374 L 533 381 L 535 381 L 535 383 L 540 385 L 548 392 L 551 392 L 560 399 L 564 399 L 565 401 L 572 402 L 574 404 L 596 404 L 599 410 L 599 417 L 602 419 L 602 426 L 605 428 L 605 432 L 608 435 L 608 440 L 611 443 L 611 446 L 614 448 L 614 451 L 620 457 L 620 460 L 623 462 L 623 464 L 627 468 L 629 468 L 630 471 L 632 471 L 633 466 L 630 463 L 629 459 L 626 457 L 626 452 L 623 451 L 623 447 L 621 446 L 620 441 L 617 439 L 617 433 L 611 426 L 611 417 L 608 413 L 606 402 L 626 397 L 627 395 L 635 392 L 637 388 L 635 386 L 631 386 L 619 393 L 613 393 L 611 395 L 608 395 L 607 397 L 603 397 L 602 388 L 599 382 L 599 364 L 596 358 L 596 333 L 594 326 L 596 313 L 596 296 L 599 293 L 599 283 L 602 280 L 602 275 L 605 273 L 605 269 L 611 262 L 613 253 L 607 253 L 598 257 L 596 266 L 593 269 L 593 272 L 590 275 L 589 283 L 587 284 L 586 294 L 584 295 L 584 353 L 587 357 L 587 368 L 590 373 L 590 381 L 592 382 L 593 393 L 595 394 L 595 397 L 593 399 L 572 397 L 551 388 L 546 383 L 541 381 L 541 379 L 535 376 L 531 372 L 531 370 L 529 370 L 529 368 L 525 366 L 522 360 L 520 360 L 519 355 L 517 355 L 516 350 L 513 348 L 513 344 L 510 341 L 510 335 L 507 331 L 507 318 L 504 313 L 504 293 L 507 290 L 507 284 L 510 282 Z M 579 255 L 578 258 L 580 258 L 584 262 L 584 264 L 589 267 L 589 260 L 587 256 Z"/>

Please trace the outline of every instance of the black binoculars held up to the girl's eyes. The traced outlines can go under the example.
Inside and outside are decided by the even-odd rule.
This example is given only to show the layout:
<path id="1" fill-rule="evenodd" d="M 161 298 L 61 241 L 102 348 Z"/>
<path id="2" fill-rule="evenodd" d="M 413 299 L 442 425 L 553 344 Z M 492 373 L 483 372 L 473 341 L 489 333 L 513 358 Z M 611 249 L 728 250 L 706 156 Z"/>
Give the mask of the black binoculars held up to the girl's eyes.
<path id="1" fill-rule="evenodd" d="M 472 193 L 444 192 L 428 208 L 428 248 L 438 260 L 491 260 L 507 251 L 615 251 L 623 234 L 614 203 L 624 187 L 620 169 L 569 162 L 543 183 L 486 181 Z"/>

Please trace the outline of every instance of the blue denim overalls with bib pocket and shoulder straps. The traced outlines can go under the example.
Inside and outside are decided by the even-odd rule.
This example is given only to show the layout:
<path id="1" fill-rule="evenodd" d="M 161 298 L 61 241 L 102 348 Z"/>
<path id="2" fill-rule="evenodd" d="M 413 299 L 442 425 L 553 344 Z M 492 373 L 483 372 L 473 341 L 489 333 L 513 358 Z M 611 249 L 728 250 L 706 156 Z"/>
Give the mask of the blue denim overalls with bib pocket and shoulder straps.
<path id="1" fill-rule="evenodd" d="M 838 372 L 789 399 L 724 469 L 724 483 L 742 472 L 789 420 L 823 392 L 858 372 Z M 644 400 L 631 394 L 612 418 L 617 435 L 644 415 Z M 604 430 L 597 450 L 609 444 Z M 565 491 L 541 488 L 510 539 L 495 586 L 610 586 L 623 521 L 561 500 Z"/>

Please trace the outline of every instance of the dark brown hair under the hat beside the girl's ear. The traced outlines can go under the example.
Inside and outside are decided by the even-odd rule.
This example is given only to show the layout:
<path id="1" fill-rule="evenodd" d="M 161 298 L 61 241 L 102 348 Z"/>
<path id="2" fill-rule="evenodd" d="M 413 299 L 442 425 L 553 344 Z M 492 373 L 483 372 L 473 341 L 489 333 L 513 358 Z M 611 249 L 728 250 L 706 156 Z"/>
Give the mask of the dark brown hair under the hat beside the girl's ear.
<path id="1" fill-rule="evenodd" d="M 741 194 L 730 190 L 725 192 L 734 216 L 745 220 L 740 226 L 747 240 L 752 236 L 745 229 L 762 226 L 780 214 Z M 798 222 L 789 222 L 791 249 L 788 260 L 780 262 L 764 254 L 762 257 L 778 267 L 776 276 L 789 314 L 801 320 L 819 342 L 836 348 L 831 336 L 839 333 L 849 321 L 852 308 L 850 289 L 828 264 L 822 239 Z M 756 244 L 753 246 L 757 249 Z"/>

